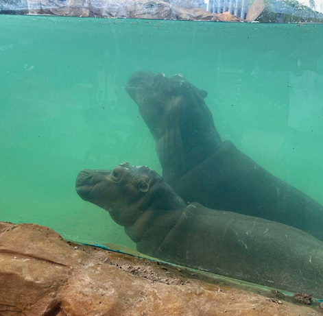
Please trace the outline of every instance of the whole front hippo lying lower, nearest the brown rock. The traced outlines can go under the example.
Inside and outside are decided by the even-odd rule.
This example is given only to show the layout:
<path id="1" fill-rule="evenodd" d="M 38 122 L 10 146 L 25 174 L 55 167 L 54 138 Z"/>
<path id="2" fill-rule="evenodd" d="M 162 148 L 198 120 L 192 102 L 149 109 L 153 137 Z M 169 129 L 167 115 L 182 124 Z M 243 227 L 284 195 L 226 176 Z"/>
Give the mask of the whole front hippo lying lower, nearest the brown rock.
<path id="1" fill-rule="evenodd" d="M 108 210 L 139 252 L 256 284 L 323 297 L 323 243 L 274 221 L 187 206 L 155 171 L 84 170 L 82 199 Z"/>

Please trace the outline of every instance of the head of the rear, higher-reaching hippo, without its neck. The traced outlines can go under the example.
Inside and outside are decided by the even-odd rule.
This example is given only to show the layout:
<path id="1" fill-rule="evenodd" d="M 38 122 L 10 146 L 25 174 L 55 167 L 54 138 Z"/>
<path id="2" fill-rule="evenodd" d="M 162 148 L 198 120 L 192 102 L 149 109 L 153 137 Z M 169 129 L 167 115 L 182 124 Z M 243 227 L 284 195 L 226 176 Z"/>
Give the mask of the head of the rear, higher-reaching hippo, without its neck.
<path id="1" fill-rule="evenodd" d="M 129 78 L 125 90 L 138 104 L 156 141 L 181 117 L 189 116 L 191 121 L 196 111 L 208 112 L 204 104 L 206 91 L 196 88 L 182 75 L 166 77 L 163 73 L 138 71 Z"/>

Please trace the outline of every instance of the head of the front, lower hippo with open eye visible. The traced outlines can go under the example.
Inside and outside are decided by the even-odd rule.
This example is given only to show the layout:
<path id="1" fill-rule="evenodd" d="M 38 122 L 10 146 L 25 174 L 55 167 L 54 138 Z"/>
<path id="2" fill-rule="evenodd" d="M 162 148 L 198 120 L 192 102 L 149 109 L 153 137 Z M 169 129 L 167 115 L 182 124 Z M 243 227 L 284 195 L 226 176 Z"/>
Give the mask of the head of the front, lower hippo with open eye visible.
<path id="1" fill-rule="evenodd" d="M 123 162 L 112 170 L 81 171 L 75 189 L 85 201 L 108 210 L 121 226 L 130 226 L 149 204 L 149 191 L 163 178 L 149 167 Z"/>

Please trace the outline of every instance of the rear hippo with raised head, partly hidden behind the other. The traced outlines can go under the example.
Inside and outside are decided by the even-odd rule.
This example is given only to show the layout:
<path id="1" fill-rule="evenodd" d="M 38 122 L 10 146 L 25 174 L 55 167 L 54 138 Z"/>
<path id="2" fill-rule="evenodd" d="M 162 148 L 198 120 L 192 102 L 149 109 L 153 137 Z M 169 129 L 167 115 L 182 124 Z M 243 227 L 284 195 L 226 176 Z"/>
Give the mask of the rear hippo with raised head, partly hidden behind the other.
<path id="1" fill-rule="evenodd" d="M 163 178 L 185 202 L 294 226 L 323 241 L 323 206 L 221 141 L 204 98 L 184 77 L 134 73 L 126 90 L 156 141 Z"/>

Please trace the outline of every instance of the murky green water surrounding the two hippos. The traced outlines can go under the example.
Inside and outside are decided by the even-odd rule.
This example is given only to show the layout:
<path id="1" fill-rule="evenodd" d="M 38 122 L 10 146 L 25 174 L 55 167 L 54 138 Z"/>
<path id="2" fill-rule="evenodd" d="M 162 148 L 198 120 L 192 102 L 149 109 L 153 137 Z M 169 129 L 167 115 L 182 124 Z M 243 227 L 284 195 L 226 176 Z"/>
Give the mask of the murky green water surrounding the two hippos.
<path id="1" fill-rule="evenodd" d="M 134 247 L 75 193 L 122 161 L 161 172 L 124 86 L 182 73 L 224 140 L 323 203 L 323 25 L 0 15 L 0 220 Z"/>

